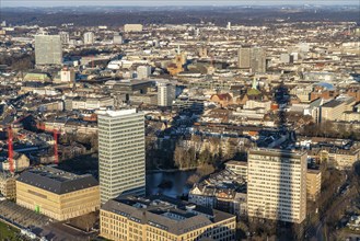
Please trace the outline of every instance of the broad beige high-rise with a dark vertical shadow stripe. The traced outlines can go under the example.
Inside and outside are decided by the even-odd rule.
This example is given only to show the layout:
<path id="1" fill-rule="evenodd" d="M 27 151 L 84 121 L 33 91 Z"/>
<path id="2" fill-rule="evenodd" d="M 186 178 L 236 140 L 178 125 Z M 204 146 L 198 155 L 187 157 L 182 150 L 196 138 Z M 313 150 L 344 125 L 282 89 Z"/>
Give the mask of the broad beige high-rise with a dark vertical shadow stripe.
<path id="1" fill-rule="evenodd" d="M 306 152 L 248 152 L 248 216 L 301 223 L 306 216 Z"/>

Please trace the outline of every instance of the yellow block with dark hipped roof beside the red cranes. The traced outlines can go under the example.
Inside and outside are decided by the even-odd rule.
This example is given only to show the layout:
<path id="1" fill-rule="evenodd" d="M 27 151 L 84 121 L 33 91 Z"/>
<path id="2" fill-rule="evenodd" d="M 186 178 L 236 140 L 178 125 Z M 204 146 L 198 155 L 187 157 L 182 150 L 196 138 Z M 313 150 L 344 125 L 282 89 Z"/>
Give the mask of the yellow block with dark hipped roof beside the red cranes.
<path id="1" fill-rule="evenodd" d="M 42 167 L 16 179 L 16 204 L 59 221 L 98 210 L 98 183 L 91 174 Z"/>

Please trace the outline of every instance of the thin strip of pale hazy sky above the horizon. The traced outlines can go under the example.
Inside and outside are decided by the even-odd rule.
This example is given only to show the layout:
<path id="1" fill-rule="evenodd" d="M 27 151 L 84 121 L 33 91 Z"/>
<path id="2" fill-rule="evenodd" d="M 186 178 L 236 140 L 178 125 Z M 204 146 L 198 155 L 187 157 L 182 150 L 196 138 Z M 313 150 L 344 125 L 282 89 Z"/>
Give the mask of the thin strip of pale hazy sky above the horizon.
<path id="1" fill-rule="evenodd" d="M 359 0 L 0 0 L 0 7 L 360 4 Z"/>

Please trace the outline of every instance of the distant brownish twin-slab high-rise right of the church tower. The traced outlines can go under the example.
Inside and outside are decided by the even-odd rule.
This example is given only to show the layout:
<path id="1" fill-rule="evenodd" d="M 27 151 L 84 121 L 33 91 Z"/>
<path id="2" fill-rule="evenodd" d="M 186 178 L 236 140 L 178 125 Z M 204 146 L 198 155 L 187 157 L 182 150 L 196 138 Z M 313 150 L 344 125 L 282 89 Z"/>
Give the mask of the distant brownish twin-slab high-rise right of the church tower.
<path id="1" fill-rule="evenodd" d="M 266 72 L 266 55 L 262 47 L 239 48 L 239 68 L 251 69 L 252 72 Z"/>

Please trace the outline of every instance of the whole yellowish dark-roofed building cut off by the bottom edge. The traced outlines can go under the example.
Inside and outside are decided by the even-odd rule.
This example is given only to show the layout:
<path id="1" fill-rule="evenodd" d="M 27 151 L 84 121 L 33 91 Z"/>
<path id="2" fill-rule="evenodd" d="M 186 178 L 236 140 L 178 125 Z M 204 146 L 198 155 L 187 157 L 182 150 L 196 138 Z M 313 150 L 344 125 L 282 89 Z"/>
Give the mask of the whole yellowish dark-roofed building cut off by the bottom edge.
<path id="1" fill-rule="evenodd" d="M 236 217 L 165 196 L 111 199 L 100 211 L 109 240 L 235 240 Z"/>

